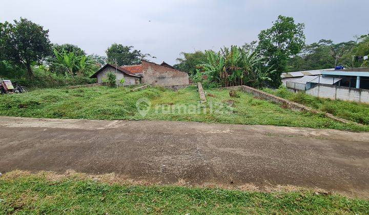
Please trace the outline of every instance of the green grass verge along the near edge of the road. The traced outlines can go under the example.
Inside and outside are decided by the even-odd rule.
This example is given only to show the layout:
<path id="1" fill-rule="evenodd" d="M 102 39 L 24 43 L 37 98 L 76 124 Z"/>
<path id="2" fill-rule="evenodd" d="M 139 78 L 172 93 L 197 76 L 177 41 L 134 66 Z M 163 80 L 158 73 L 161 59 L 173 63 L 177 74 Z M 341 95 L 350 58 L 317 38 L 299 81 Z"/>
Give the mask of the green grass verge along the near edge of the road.
<path id="1" fill-rule="evenodd" d="M 45 175 L 0 178 L 0 213 L 19 214 L 367 214 L 369 202 L 313 190 L 249 192 L 220 188 L 107 184 Z"/>

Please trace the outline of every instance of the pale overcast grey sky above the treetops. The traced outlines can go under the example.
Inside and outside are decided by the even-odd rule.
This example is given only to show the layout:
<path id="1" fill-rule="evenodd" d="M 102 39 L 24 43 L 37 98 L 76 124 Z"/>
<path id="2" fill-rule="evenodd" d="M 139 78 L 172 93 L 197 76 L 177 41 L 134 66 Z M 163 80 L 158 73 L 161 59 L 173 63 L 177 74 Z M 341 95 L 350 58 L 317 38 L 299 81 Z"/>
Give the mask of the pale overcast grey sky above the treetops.
<path id="1" fill-rule="evenodd" d="M 24 17 L 49 29 L 51 42 L 74 44 L 88 54 L 105 55 L 116 42 L 174 64 L 182 51 L 255 40 L 279 14 L 304 23 L 308 43 L 351 40 L 369 32 L 368 9 L 367 0 L 7 0 L 0 22 Z"/>

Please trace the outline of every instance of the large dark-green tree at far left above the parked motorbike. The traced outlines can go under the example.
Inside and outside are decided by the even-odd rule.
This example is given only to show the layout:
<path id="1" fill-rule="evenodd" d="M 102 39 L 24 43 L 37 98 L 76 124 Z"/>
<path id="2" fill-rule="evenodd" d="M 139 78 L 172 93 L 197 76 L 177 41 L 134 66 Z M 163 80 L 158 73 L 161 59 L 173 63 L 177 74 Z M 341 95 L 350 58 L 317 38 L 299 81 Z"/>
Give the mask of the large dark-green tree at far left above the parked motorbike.
<path id="1" fill-rule="evenodd" d="M 49 30 L 20 18 L 14 24 L 5 22 L 0 27 L 0 51 L 6 60 L 27 69 L 29 77 L 33 76 L 32 63 L 40 63 L 51 53 Z"/>

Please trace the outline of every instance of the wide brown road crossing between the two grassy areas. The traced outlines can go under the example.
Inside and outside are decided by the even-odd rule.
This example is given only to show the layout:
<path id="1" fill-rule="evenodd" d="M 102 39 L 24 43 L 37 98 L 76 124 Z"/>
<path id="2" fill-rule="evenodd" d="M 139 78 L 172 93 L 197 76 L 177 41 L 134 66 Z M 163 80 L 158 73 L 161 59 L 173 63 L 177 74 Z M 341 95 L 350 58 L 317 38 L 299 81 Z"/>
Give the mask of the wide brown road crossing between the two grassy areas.
<path id="1" fill-rule="evenodd" d="M 0 121 L 2 173 L 74 169 L 151 182 L 289 184 L 369 196 L 369 133 L 174 121 Z"/>

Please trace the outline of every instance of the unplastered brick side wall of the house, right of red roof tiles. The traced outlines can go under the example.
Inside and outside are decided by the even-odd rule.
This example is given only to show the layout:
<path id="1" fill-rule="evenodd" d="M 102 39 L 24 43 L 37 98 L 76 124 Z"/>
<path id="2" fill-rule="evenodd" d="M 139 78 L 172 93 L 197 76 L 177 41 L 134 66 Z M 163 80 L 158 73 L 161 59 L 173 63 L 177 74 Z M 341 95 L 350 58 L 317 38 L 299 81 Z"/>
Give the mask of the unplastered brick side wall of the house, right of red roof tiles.
<path id="1" fill-rule="evenodd" d="M 155 63 L 142 61 L 142 72 L 144 74 L 142 83 L 153 83 L 153 85 L 160 86 L 189 84 L 187 73 Z"/>

